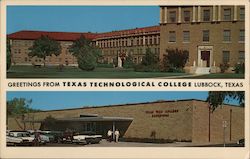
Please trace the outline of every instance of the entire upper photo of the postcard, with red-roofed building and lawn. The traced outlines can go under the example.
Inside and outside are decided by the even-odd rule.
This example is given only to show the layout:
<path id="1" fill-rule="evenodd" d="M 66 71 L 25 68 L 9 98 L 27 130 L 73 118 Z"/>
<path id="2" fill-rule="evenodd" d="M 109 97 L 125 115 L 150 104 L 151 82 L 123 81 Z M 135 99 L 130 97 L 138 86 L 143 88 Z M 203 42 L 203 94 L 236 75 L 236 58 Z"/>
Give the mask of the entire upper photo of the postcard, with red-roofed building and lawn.
<path id="1" fill-rule="evenodd" d="M 244 5 L 6 9 L 7 78 L 245 78 Z"/>

